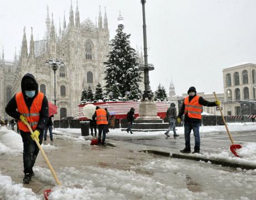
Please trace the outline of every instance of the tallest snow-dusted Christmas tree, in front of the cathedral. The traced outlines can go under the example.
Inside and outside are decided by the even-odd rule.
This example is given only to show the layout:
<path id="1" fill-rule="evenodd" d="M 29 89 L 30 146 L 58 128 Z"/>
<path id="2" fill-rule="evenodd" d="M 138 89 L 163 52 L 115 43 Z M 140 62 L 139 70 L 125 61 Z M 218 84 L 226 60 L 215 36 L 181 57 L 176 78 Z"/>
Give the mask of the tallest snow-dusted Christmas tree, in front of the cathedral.
<path id="1" fill-rule="evenodd" d="M 119 92 L 125 96 L 126 91 L 139 90 L 141 73 L 137 63 L 138 56 L 135 49 L 130 46 L 130 34 L 123 32 L 124 26 L 120 24 L 116 36 L 110 42 L 110 52 L 105 62 L 106 91 L 113 92 L 118 83 Z M 116 88 L 115 88 L 116 89 Z M 135 92 L 136 93 L 136 92 Z"/>

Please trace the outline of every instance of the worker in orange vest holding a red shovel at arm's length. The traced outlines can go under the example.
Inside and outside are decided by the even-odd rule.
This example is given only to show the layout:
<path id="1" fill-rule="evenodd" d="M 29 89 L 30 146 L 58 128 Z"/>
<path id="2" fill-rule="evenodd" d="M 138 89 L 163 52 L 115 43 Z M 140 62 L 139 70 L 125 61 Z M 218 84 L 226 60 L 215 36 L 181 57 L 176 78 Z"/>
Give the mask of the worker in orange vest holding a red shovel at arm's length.
<path id="1" fill-rule="evenodd" d="M 177 121 L 181 122 L 181 116 L 184 117 L 184 134 L 185 134 L 185 148 L 181 150 L 181 153 L 190 153 L 190 133 L 193 130 L 195 137 L 195 147 L 193 153 L 200 153 L 200 134 L 199 127 L 201 125 L 201 113 L 203 112 L 203 106 L 213 107 L 219 106 L 220 101 L 215 102 L 206 101 L 203 97 L 196 95 L 195 87 L 190 87 L 188 90 L 189 96 L 184 99 L 184 103 L 180 109 L 180 113 Z"/>

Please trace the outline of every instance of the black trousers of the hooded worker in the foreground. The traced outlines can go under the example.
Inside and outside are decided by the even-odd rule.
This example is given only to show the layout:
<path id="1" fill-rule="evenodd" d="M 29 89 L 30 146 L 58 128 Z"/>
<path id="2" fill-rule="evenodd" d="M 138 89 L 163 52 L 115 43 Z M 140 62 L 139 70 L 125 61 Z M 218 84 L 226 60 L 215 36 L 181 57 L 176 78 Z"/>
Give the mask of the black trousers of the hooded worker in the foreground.
<path id="1" fill-rule="evenodd" d="M 22 142 L 23 142 L 23 166 L 24 173 L 32 173 L 32 168 L 36 162 L 37 154 L 39 152 L 39 148 L 33 139 L 31 138 L 31 134 L 29 132 L 21 132 Z M 42 144 L 43 141 L 43 133 L 39 135 L 39 143 Z"/>

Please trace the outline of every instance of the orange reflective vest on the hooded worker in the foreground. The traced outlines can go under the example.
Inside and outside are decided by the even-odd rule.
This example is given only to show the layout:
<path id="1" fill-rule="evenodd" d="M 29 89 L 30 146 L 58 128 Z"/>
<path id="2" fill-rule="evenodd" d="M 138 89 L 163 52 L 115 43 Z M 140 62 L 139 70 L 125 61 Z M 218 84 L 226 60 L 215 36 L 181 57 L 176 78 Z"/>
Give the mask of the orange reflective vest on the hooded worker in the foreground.
<path id="1" fill-rule="evenodd" d="M 37 124 L 39 122 L 43 97 L 44 97 L 44 94 L 42 92 L 38 92 L 29 110 L 24 100 L 24 96 L 22 92 L 18 92 L 15 96 L 18 112 L 23 114 L 23 116 L 27 118 L 27 121 L 31 126 L 32 130 L 36 129 Z M 21 131 L 29 132 L 27 125 L 25 125 L 21 120 L 18 121 L 18 127 L 19 129 L 21 129 Z"/>

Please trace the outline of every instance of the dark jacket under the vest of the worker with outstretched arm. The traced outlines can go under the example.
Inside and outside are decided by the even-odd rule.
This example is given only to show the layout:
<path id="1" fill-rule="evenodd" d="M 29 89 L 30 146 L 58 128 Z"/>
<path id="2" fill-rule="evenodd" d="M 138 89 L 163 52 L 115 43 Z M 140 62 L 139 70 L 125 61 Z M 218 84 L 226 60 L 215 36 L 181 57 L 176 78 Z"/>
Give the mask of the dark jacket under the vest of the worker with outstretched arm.
<path id="1" fill-rule="evenodd" d="M 196 96 L 196 95 L 195 95 Z M 191 99 L 193 99 L 195 96 L 189 96 L 189 102 L 191 101 Z M 217 106 L 215 102 L 209 102 L 209 101 L 206 101 L 203 97 L 199 97 L 199 103 L 202 105 L 202 106 L 207 106 L 207 107 L 214 107 L 214 106 Z M 183 116 L 184 114 L 184 111 L 185 111 L 185 104 L 183 103 L 181 108 L 180 108 L 180 113 L 179 113 L 179 118 L 181 118 L 181 116 Z M 185 117 L 184 117 L 184 122 L 201 122 L 201 119 L 196 119 L 196 118 L 191 118 L 188 116 L 188 113 L 185 114 Z"/>

